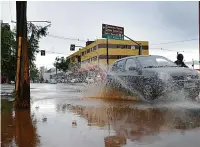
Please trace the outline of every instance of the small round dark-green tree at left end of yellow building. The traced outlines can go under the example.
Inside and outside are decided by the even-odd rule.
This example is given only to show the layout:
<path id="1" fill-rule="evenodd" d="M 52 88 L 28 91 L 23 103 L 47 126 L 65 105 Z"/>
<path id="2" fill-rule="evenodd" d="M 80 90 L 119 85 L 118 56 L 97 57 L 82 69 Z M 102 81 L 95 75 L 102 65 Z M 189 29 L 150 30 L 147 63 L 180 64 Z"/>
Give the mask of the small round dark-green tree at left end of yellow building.
<path id="1" fill-rule="evenodd" d="M 63 72 L 67 72 L 67 70 L 69 69 L 70 62 L 64 57 L 56 57 L 53 65 L 54 67 L 56 67 L 56 69 L 61 70 Z"/>

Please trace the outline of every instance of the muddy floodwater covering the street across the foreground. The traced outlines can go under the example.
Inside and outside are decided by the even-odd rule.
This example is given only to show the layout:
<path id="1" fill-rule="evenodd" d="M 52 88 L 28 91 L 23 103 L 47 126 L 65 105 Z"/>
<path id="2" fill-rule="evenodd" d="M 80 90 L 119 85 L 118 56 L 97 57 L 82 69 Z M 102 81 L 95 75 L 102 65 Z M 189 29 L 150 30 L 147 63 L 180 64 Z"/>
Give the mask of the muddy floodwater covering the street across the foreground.
<path id="1" fill-rule="evenodd" d="M 12 88 L 2 85 L 1 91 Z M 1 146 L 199 147 L 200 104 L 101 99 L 99 91 L 83 84 L 32 84 L 31 111 L 1 112 Z"/>

